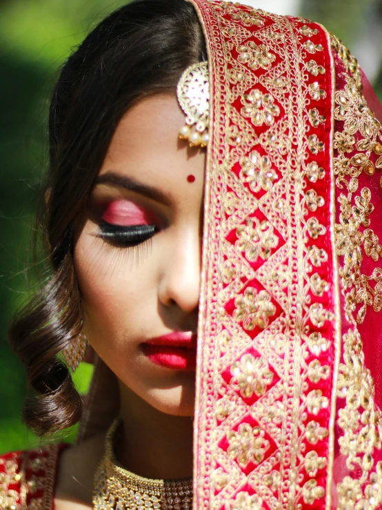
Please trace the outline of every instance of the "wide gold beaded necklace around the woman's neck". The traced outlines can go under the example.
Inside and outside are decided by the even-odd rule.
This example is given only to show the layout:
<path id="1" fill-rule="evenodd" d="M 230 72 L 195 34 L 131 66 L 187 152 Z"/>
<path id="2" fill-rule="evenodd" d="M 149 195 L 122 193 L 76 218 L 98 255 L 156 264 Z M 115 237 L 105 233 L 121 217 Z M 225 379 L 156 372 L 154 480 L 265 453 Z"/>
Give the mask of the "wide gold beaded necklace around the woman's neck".
<path id="1" fill-rule="evenodd" d="M 124 469 L 115 458 L 115 420 L 105 440 L 105 454 L 94 475 L 94 510 L 191 510 L 192 478 L 150 480 Z"/>

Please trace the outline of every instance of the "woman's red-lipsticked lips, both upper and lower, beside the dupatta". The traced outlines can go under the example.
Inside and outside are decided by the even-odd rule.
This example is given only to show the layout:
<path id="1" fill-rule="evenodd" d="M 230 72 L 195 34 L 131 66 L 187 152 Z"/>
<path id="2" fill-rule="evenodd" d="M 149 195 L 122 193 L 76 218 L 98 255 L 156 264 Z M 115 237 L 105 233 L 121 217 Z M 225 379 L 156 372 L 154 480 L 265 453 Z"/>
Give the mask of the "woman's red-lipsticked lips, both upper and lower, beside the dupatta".
<path id="1" fill-rule="evenodd" d="M 150 338 L 142 344 L 143 353 L 157 365 L 173 370 L 194 371 L 197 367 L 197 335 L 174 331 Z"/>

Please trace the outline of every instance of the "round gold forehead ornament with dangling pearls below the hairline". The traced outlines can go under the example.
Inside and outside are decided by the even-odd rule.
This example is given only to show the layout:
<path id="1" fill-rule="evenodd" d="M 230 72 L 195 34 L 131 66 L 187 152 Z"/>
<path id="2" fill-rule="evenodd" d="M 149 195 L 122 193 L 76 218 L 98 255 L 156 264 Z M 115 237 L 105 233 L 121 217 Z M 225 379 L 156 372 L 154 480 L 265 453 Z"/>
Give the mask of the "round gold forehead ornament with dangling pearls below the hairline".
<path id="1" fill-rule="evenodd" d="M 179 138 L 188 140 L 191 147 L 208 144 L 208 118 L 210 90 L 208 85 L 208 63 L 194 63 L 188 67 L 177 87 L 179 105 L 185 112 L 185 126 Z"/>

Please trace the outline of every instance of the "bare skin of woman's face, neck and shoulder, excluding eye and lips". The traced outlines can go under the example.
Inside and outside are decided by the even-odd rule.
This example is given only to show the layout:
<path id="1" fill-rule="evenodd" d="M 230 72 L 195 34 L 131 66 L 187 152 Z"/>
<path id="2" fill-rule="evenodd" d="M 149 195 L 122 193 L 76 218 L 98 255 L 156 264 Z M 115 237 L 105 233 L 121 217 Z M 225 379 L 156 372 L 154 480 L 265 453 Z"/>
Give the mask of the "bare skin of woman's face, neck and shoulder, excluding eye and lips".
<path id="1" fill-rule="evenodd" d="M 183 124 L 172 95 L 143 99 L 126 113 L 99 176 L 128 177 L 160 196 L 98 184 L 74 250 L 86 336 L 119 380 L 123 437 L 115 453 L 126 469 L 148 478 L 192 475 L 195 373 L 159 366 L 141 351 L 152 337 L 197 331 L 205 151 L 178 139 Z M 97 237 L 99 216 L 114 203 L 148 211 L 157 224 L 141 248 Z M 92 508 L 104 436 L 61 455 L 56 510 Z"/>

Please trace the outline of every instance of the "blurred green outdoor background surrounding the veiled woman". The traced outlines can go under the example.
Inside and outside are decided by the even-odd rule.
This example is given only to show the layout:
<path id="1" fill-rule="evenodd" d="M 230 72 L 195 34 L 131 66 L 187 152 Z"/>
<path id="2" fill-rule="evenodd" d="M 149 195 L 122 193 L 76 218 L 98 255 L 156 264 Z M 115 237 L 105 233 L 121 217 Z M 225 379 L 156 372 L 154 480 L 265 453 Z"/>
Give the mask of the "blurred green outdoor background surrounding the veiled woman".
<path id="1" fill-rule="evenodd" d="M 58 68 L 105 15 L 125 1 L 0 0 L 0 453 L 39 444 L 21 424 L 24 369 L 6 343 L 12 311 L 28 297 L 32 217 L 46 168 L 46 120 Z M 250 0 L 320 21 L 343 39 L 382 98 L 382 6 L 378 0 Z M 290 9 L 286 10 L 285 9 Z M 86 392 L 92 367 L 76 374 Z M 75 428 L 62 433 L 73 440 Z"/>

